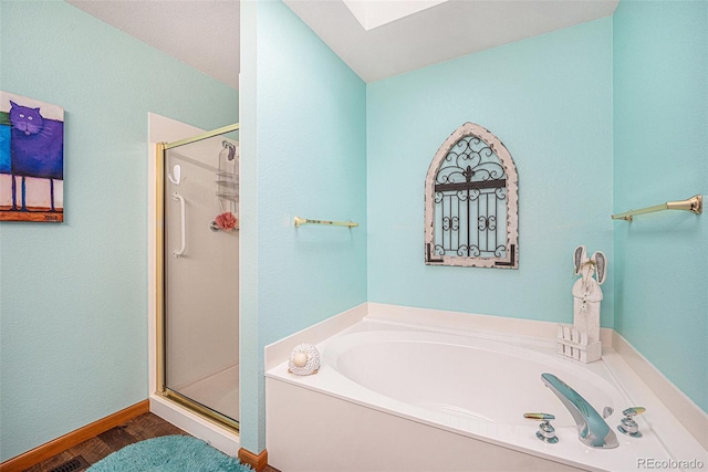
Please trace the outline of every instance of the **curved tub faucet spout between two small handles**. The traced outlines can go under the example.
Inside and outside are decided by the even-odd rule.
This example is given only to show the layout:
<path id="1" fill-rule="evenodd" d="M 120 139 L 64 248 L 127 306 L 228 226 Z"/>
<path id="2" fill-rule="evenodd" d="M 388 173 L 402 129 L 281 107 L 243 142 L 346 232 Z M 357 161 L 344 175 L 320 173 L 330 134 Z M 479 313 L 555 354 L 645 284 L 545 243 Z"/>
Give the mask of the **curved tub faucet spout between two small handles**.
<path id="1" fill-rule="evenodd" d="M 591 448 L 612 449 L 620 445 L 617 436 L 592 405 L 553 374 L 541 374 L 541 380 L 571 412 L 580 441 Z"/>

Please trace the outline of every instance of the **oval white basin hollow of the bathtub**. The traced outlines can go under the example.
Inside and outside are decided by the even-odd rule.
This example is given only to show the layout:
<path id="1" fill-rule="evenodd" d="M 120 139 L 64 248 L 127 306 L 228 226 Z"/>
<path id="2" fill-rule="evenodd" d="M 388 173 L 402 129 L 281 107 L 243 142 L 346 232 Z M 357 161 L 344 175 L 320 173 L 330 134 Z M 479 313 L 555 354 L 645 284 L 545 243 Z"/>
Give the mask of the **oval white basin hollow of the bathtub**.
<path id="1" fill-rule="evenodd" d="M 469 419 L 535 427 L 524 412 L 553 412 L 555 427 L 574 426 L 570 412 L 542 384 L 543 373 L 582 392 L 601 412 L 605 407 L 623 408 L 616 388 L 591 370 L 579 371 L 563 358 L 480 337 L 366 331 L 337 336 L 325 345 L 323 358 L 354 384 L 347 391 L 361 394 L 364 387 L 404 403 L 399 408 L 409 406 L 450 426 Z"/>

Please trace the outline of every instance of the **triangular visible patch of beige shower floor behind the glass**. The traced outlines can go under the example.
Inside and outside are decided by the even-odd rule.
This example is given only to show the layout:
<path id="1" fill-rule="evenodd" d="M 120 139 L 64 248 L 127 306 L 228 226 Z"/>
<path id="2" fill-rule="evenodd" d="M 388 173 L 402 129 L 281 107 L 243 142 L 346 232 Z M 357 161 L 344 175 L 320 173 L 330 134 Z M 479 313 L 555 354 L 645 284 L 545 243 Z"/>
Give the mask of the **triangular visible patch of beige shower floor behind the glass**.
<path id="1" fill-rule="evenodd" d="M 238 364 L 197 380 L 177 391 L 232 420 L 239 420 Z"/>

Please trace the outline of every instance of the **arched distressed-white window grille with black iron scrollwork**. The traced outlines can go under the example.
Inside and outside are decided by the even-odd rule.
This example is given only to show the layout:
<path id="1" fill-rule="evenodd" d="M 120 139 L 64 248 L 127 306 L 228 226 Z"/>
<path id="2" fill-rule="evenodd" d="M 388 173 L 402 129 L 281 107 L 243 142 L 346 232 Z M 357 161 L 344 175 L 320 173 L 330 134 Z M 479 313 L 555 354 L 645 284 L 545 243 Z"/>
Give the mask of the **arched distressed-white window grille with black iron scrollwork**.
<path id="1" fill-rule="evenodd" d="M 466 123 L 436 153 L 425 182 L 425 262 L 519 268 L 519 180 L 497 136 Z"/>

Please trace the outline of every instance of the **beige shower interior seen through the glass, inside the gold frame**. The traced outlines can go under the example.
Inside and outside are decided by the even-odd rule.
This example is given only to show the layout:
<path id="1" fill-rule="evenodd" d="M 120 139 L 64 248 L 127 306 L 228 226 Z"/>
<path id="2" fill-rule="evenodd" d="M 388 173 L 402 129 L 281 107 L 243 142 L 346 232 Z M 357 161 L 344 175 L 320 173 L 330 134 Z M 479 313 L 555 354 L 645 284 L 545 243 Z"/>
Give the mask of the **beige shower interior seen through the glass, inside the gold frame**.
<path id="1" fill-rule="evenodd" d="M 238 420 L 239 233 L 212 231 L 210 223 L 236 201 L 218 198 L 221 143 L 216 136 L 168 149 L 165 172 L 180 168 L 179 183 L 165 182 L 165 380 L 183 394 Z M 186 204 L 185 254 L 180 248 L 180 195 Z"/>

